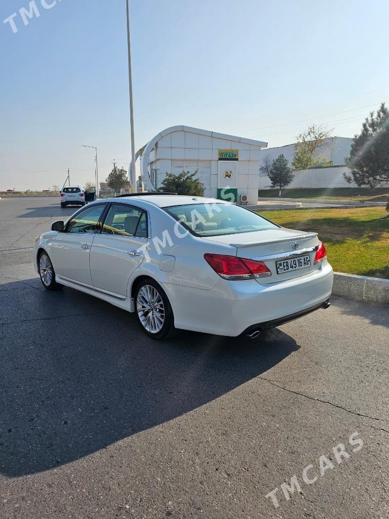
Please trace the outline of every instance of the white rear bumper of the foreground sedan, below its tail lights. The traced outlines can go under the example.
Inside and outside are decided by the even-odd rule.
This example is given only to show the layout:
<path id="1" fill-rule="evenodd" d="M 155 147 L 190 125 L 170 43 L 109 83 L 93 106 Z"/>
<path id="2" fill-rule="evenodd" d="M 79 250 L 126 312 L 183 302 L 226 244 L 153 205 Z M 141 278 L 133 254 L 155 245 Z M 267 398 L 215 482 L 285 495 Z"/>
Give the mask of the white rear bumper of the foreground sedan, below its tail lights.
<path id="1" fill-rule="evenodd" d="M 327 261 L 310 274 L 271 284 L 219 279 L 211 290 L 162 283 L 177 328 L 237 337 L 297 319 L 323 306 L 334 273 Z"/>

